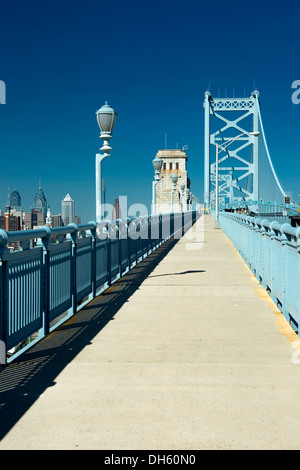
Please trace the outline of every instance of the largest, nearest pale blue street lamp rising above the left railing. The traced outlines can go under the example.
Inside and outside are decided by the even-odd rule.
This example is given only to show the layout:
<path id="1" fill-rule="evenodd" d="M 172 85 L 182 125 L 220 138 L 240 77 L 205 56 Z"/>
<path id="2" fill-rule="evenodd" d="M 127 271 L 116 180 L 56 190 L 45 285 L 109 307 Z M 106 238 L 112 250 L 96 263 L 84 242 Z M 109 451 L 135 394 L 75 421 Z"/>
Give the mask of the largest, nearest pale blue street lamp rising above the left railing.
<path id="1" fill-rule="evenodd" d="M 103 139 L 103 146 L 100 148 L 103 154 L 96 154 L 96 222 L 100 223 L 102 219 L 102 161 L 110 157 L 113 149 L 109 145 L 109 139 L 112 138 L 112 131 L 116 122 L 117 113 L 107 104 L 98 109 L 96 118 Z"/>

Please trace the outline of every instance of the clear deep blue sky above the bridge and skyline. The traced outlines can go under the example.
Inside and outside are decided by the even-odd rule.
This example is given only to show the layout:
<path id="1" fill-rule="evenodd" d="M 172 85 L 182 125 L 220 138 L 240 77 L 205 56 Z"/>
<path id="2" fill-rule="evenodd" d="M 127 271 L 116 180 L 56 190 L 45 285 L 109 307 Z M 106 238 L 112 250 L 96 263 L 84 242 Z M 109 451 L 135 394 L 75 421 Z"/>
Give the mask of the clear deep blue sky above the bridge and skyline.
<path id="1" fill-rule="evenodd" d="M 203 98 L 260 91 L 269 150 L 284 189 L 300 194 L 297 1 L 2 2 L 0 208 L 7 186 L 30 207 L 42 180 L 52 213 L 67 193 L 95 219 L 95 112 L 118 112 L 103 162 L 108 202 L 151 201 L 152 160 L 188 146 L 192 191 L 203 200 Z"/>

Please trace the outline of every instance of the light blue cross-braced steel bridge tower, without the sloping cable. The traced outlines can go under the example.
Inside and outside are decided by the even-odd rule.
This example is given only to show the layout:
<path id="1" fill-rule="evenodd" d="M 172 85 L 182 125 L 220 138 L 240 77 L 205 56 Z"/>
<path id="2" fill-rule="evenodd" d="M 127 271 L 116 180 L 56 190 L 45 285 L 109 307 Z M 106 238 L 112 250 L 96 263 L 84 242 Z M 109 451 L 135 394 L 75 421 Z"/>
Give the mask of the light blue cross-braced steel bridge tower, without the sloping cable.
<path id="1" fill-rule="evenodd" d="M 258 200 L 259 92 L 249 98 L 204 98 L 204 204 L 209 210 L 215 200 L 216 145 L 219 145 L 219 200 Z M 243 135 L 241 135 L 243 134 Z M 232 145 L 222 151 L 235 137 Z"/>

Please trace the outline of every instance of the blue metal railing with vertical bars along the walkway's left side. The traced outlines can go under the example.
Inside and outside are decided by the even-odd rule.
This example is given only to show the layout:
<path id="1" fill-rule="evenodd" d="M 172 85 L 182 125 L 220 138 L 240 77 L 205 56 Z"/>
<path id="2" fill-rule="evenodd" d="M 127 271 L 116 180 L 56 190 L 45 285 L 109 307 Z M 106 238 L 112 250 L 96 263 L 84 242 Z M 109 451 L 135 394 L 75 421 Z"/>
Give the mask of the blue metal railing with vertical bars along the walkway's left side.
<path id="1" fill-rule="evenodd" d="M 0 230 L 0 367 L 144 259 L 199 211 L 36 230 Z M 18 250 L 9 247 L 18 244 Z"/>

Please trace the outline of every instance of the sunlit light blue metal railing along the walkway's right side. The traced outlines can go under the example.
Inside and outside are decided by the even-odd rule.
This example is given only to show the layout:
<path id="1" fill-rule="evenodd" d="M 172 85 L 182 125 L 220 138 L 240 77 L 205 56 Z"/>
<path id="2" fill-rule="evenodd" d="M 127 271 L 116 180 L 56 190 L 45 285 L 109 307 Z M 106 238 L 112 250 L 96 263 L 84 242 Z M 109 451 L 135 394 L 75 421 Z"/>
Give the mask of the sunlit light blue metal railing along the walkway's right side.
<path id="1" fill-rule="evenodd" d="M 226 212 L 220 213 L 220 224 L 299 334 L 300 227 Z"/>

